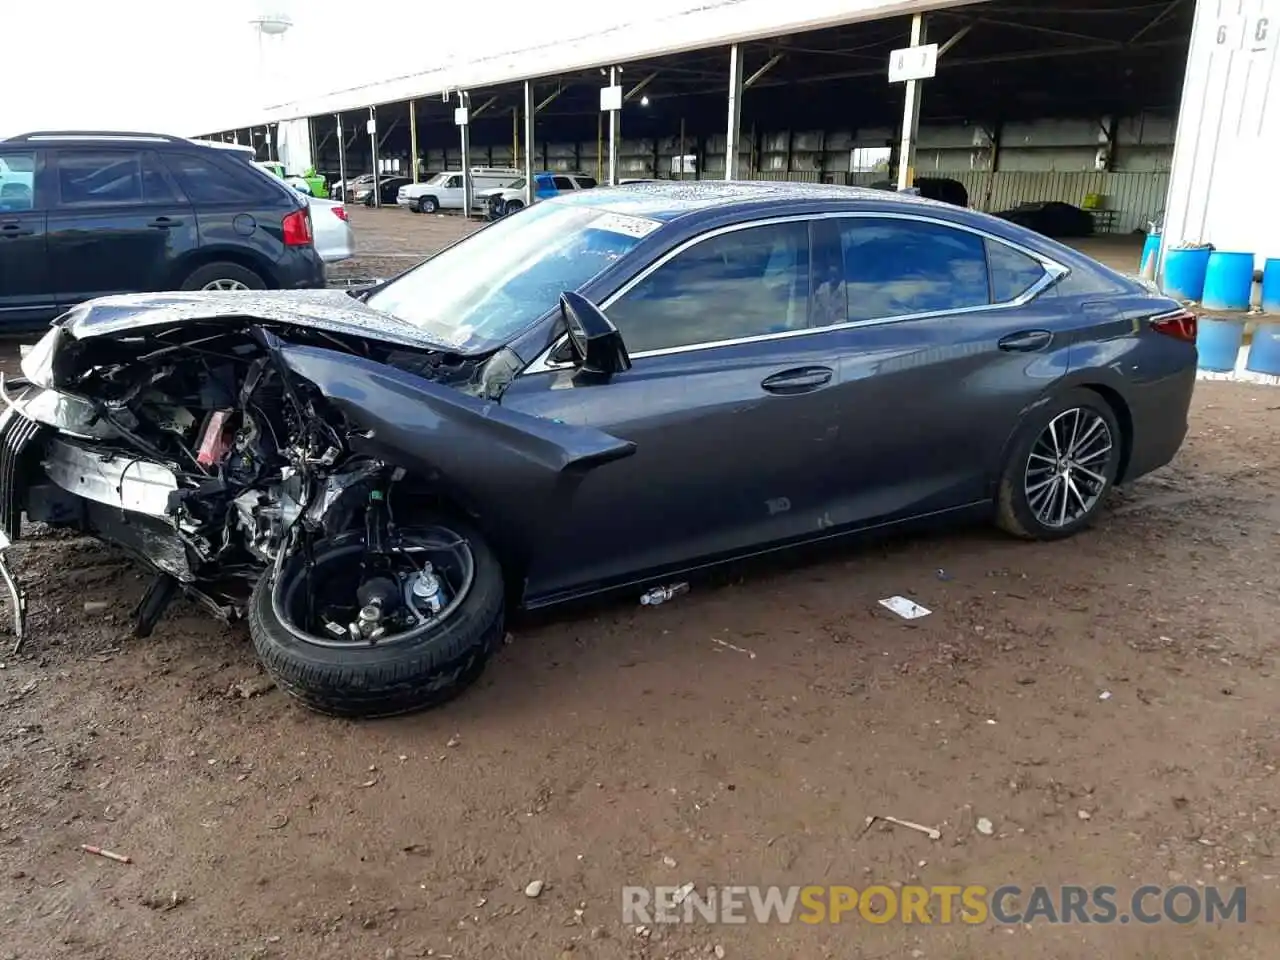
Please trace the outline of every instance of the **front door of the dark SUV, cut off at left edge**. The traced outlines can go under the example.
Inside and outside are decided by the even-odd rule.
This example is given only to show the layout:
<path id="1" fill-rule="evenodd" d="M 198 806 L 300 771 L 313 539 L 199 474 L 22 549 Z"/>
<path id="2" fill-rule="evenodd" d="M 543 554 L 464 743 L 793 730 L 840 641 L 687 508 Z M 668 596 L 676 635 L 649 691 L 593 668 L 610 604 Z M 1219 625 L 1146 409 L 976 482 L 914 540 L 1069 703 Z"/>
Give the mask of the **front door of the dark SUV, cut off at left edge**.
<path id="1" fill-rule="evenodd" d="M 0 326 L 56 312 L 46 247 L 42 151 L 0 145 Z"/>

